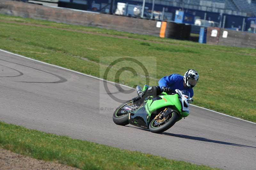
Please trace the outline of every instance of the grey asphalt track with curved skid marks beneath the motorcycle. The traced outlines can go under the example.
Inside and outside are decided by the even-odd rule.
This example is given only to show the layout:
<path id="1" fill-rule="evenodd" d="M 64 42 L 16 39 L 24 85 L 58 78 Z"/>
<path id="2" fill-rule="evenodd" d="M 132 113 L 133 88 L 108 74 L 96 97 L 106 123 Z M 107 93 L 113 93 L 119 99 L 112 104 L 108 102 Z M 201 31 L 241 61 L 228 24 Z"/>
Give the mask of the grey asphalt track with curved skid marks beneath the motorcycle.
<path id="1" fill-rule="evenodd" d="M 108 88 L 118 98 L 135 96 L 112 83 Z M 223 169 L 256 167 L 256 124 L 191 106 L 190 115 L 163 134 L 118 126 L 111 109 L 119 103 L 102 80 L 3 51 L 0 94 L 0 120 L 7 123 Z"/>

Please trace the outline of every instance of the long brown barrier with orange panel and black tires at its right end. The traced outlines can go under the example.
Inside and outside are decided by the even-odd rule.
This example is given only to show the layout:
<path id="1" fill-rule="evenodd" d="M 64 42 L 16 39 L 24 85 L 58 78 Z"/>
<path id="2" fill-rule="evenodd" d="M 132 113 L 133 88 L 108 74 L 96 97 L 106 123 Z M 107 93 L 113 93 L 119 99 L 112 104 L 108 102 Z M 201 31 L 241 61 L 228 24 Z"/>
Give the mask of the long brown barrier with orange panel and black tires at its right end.
<path id="1" fill-rule="evenodd" d="M 0 13 L 146 35 L 160 36 L 162 31 L 162 37 L 165 38 L 188 40 L 190 35 L 190 28 L 184 24 L 52 8 L 18 1 L 1 0 Z"/>

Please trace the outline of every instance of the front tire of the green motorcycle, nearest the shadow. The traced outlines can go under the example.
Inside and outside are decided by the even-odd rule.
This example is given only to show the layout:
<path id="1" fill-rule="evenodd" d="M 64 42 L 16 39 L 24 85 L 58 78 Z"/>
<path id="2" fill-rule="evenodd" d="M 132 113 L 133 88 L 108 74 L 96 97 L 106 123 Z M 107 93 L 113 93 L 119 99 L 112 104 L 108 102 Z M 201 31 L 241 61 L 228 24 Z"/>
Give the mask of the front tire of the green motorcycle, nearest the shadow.
<path id="1" fill-rule="evenodd" d="M 177 121 L 177 119 L 179 118 L 179 114 L 177 112 L 172 112 L 169 117 L 171 116 L 171 118 L 167 118 L 167 120 L 165 120 L 164 124 L 162 125 L 157 125 L 156 124 L 156 120 L 153 119 L 151 120 L 150 124 L 149 124 L 149 130 L 150 132 L 153 133 L 162 133 L 164 131 L 166 131 L 167 129 L 171 128 Z"/>

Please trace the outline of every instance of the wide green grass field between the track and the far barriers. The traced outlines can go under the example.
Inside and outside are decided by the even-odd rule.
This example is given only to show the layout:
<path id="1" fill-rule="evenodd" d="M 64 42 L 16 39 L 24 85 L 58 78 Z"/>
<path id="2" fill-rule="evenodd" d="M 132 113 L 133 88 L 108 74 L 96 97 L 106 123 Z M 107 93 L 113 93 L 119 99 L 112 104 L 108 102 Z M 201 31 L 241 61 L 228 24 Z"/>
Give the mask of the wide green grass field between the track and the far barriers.
<path id="1" fill-rule="evenodd" d="M 194 88 L 193 104 L 256 122 L 255 49 L 161 39 L 7 15 L 0 15 L 0 27 L 0 49 L 101 78 L 113 60 L 108 56 L 148 57 L 143 64 L 152 68 L 150 85 L 157 85 L 165 75 L 196 69 L 200 78 Z M 108 80 L 115 81 L 113 75 L 118 68 L 113 67 Z M 143 85 L 143 71 L 138 74 L 134 78 L 128 72 L 122 73 L 120 82 Z"/>

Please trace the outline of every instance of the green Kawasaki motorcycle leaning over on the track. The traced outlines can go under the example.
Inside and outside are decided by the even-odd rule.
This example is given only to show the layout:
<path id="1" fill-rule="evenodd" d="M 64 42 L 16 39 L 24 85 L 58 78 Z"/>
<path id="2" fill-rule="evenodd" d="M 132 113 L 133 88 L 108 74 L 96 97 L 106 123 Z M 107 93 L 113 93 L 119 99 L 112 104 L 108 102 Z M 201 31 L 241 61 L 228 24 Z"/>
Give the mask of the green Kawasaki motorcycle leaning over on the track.
<path id="1" fill-rule="evenodd" d="M 148 87 L 144 85 L 143 91 Z M 136 90 L 138 95 L 142 92 L 140 86 Z M 117 125 L 131 124 L 153 133 L 162 133 L 189 115 L 189 103 L 192 101 L 189 91 L 179 89 L 172 94 L 162 92 L 157 97 L 149 96 L 141 104 L 129 100 L 117 107 L 113 121 Z"/>

